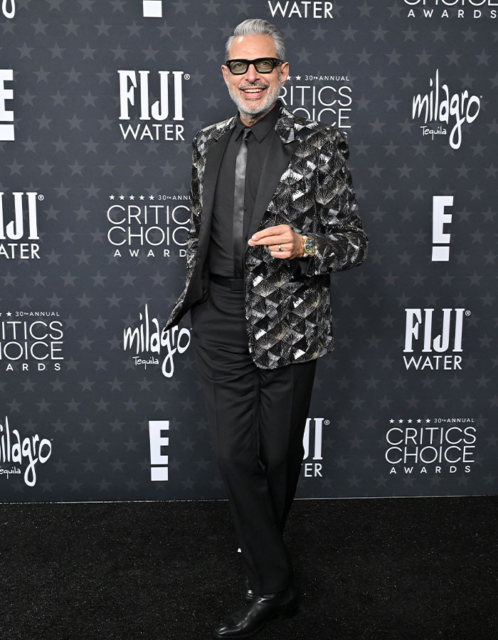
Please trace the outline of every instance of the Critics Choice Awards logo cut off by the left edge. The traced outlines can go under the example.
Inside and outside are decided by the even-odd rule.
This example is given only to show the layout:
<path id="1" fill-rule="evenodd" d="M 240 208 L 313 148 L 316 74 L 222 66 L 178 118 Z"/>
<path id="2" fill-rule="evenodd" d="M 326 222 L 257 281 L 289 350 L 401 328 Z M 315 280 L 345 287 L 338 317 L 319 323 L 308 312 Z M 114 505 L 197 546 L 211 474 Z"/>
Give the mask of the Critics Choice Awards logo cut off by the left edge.
<path id="1" fill-rule="evenodd" d="M 58 311 L 0 311 L 1 370 L 60 371 L 63 324 L 50 319 L 58 316 Z"/>

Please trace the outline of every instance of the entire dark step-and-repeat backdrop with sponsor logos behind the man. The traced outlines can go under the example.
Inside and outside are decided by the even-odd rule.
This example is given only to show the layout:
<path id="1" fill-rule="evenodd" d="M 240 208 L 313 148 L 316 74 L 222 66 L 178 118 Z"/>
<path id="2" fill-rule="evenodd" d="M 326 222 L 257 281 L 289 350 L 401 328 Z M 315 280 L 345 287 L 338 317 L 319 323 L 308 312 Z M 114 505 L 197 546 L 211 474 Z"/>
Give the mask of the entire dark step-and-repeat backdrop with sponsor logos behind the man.
<path id="1" fill-rule="evenodd" d="M 298 497 L 496 494 L 498 0 L 0 1 L 0 500 L 223 498 L 184 285 L 224 43 L 285 36 L 370 240 L 332 276 Z"/>

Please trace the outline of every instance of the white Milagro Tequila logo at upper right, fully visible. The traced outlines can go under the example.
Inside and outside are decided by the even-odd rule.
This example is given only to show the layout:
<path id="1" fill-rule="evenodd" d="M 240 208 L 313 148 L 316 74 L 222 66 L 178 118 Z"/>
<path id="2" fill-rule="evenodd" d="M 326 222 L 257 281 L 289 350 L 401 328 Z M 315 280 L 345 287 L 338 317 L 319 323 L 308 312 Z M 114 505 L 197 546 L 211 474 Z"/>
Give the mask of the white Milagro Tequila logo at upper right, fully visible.
<path id="1" fill-rule="evenodd" d="M 450 146 L 460 149 L 462 144 L 462 124 L 472 124 L 479 115 L 481 100 L 477 95 L 469 95 L 467 90 L 450 95 L 448 85 L 440 85 L 439 70 L 436 70 L 435 80 L 429 80 L 430 91 L 418 93 L 413 97 L 412 118 L 423 120 L 420 126 L 424 136 L 446 135 L 450 130 Z"/>

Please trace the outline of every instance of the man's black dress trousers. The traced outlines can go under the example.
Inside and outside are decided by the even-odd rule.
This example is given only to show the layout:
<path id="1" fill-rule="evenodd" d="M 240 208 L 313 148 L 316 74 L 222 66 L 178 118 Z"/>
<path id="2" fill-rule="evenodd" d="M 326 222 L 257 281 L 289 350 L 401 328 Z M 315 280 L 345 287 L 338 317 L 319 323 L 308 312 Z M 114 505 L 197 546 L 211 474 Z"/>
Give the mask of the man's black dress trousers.
<path id="1" fill-rule="evenodd" d="M 255 594 L 275 593 L 292 579 L 282 534 L 300 475 L 317 361 L 255 366 L 244 292 L 212 280 L 191 320 L 214 449 L 249 584 Z"/>

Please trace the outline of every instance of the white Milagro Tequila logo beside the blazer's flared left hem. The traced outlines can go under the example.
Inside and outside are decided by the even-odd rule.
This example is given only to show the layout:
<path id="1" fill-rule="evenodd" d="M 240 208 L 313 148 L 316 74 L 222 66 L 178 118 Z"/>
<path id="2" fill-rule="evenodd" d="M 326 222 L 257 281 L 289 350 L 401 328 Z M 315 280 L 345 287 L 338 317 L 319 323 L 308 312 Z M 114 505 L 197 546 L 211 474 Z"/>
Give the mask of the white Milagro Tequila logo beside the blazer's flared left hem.
<path id="1" fill-rule="evenodd" d="M 175 353 L 184 353 L 189 348 L 190 331 L 185 327 L 179 329 L 173 326 L 171 329 L 161 329 L 157 318 L 149 318 L 149 309 L 145 305 L 144 315 L 139 314 L 141 324 L 132 328 L 125 327 L 123 331 L 124 351 L 134 350 L 137 356 L 133 356 L 135 365 L 142 365 L 147 369 L 147 365 L 159 364 L 159 358 L 154 355 L 161 354 L 161 350 L 166 349 L 166 356 L 162 362 L 161 371 L 166 378 L 171 378 L 174 374 L 173 356 Z M 142 355 L 139 355 L 142 354 Z M 145 357 L 144 357 L 145 356 Z"/>

